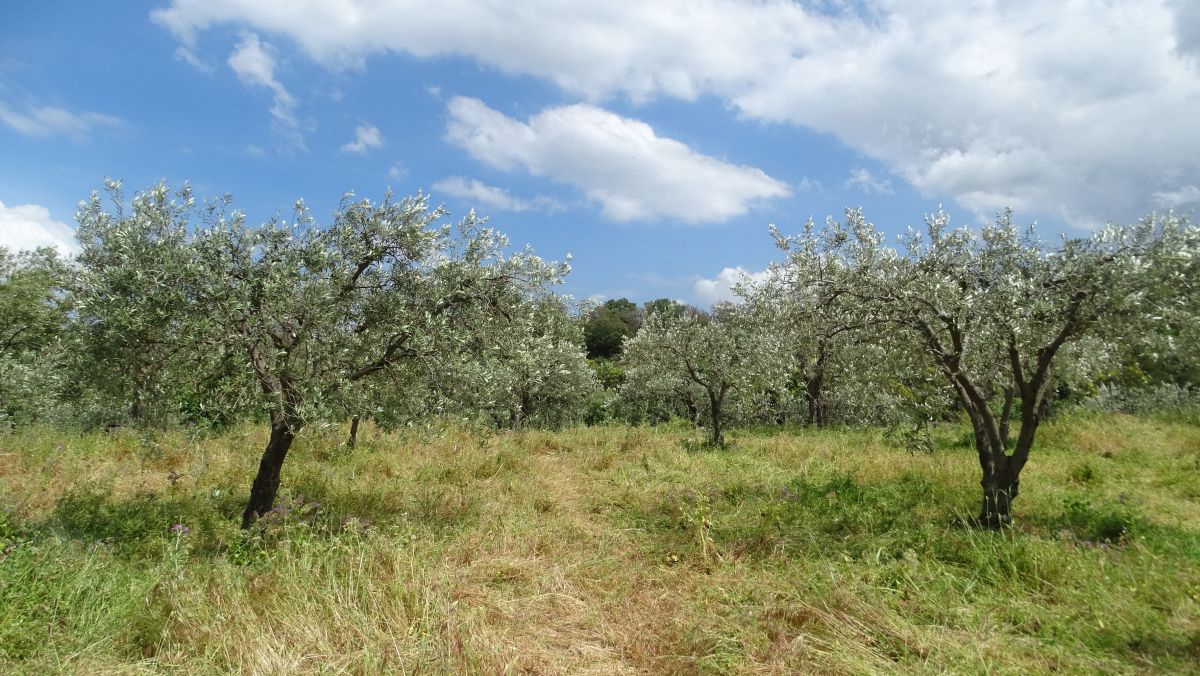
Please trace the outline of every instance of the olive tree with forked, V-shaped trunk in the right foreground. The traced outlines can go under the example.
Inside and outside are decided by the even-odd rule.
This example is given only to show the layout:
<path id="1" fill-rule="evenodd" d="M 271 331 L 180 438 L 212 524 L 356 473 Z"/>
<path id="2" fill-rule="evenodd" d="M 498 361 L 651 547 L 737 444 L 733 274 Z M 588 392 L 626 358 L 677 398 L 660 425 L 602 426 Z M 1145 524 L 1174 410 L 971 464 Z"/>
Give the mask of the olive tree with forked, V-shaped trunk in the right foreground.
<path id="1" fill-rule="evenodd" d="M 862 211 L 829 227 L 824 255 L 846 274 L 823 282 L 826 301 L 876 327 L 881 345 L 919 346 L 942 372 L 971 420 L 979 522 L 992 528 L 1010 522 L 1055 369 L 1094 357 L 1068 348 L 1154 322 L 1180 285 L 1195 283 L 1196 229 L 1174 215 L 1054 246 L 1008 213 L 976 231 L 938 211 L 902 251 L 884 246 Z"/>

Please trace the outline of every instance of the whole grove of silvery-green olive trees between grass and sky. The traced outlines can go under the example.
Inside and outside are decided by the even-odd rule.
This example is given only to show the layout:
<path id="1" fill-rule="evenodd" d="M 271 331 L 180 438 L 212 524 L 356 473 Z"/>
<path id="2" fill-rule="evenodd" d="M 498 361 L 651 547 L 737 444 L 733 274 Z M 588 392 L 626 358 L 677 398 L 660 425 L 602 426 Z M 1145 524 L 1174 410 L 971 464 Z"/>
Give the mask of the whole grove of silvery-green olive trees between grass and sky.
<path id="1" fill-rule="evenodd" d="M 1186 399 L 1200 377 L 1200 231 L 1175 214 L 1057 241 L 1007 213 L 955 228 L 938 211 L 895 245 L 860 210 L 773 226 L 781 259 L 706 311 L 577 304 L 556 293 L 568 263 L 424 195 L 251 226 L 186 185 L 106 187 L 80 203 L 76 257 L 0 249 L 0 426 L 260 424 L 247 527 L 305 430 L 348 424 L 354 445 L 362 420 L 452 418 L 679 420 L 715 448 L 797 425 L 878 425 L 912 448 L 961 420 L 996 528 L 1057 400 Z"/>

